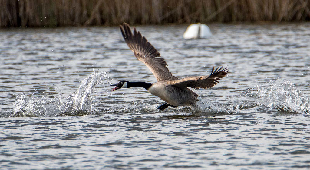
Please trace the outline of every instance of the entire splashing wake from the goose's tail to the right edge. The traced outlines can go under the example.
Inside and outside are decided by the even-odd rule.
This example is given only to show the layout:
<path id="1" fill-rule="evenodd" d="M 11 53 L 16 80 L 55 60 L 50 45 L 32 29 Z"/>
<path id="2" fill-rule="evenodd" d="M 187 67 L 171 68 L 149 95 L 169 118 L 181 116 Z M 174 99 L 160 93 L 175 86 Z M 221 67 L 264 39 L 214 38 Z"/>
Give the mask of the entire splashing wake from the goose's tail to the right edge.
<path id="1" fill-rule="evenodd" d="M 237 114 L 244 109 L 265 106 L 287 113 L 310 113 L 310 96 L 303 93 L 290 82 L 277 78 L 265 84 L 259 84 L 247 91 L 246 97 L 259 98 L 258 103 L 241 102 L 239 104 L 220 104 L 207 99 L 200 100 L 193 108 L 193 115 L 204 116 L 210 114 Z M 252 110 L 253 111 L 253 110 Z"/>

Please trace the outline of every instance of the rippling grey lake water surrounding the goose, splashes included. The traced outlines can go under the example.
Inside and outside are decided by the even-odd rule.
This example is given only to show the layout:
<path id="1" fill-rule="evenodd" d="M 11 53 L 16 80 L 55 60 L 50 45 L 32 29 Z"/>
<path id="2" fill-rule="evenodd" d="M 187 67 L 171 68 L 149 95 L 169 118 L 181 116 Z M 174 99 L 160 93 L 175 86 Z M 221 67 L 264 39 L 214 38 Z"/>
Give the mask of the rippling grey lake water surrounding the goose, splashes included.
<path id="1" fill-rule="evenodd" d="M 310 23 L 137 26 L 176 77 L 229 69 L 195 89 L 202 110 L 156 108 L 156 82 L 118 27 L 0 30 L 1 169 L 310 168 Z"/>

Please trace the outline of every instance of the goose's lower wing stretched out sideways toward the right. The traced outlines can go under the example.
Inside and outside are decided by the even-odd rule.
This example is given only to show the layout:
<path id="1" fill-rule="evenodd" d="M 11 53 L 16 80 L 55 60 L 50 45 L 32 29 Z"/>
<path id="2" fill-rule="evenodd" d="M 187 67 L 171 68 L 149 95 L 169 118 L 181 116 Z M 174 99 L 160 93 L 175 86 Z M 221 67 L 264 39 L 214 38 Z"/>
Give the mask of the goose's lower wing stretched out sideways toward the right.
<path id="1" fill-rule="evenodd" d="M 212 68 L 210 76 L 193 76 L 193 77 L 185 77 L 181 80 L 178 81 L 168 81 L 167 83 L 170 85 L 177 86 L 179 88 L 186 88 L 186 87 L 191 87 L 191 88 L 203 88 L 203 89 L 208 89 L 216 85 L 221 78 L 226 76 L 228 73 L 228 69 L 223 67 L 219 68 L 217 67 L 214 69 Z"/>

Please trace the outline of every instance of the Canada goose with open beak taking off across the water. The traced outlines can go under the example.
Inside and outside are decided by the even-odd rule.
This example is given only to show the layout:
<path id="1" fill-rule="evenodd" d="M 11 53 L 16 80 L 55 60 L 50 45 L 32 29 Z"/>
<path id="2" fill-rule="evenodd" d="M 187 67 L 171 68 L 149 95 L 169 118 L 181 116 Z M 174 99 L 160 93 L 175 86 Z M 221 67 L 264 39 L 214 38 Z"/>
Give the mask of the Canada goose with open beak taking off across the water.
<path id="1" fill-rule="evenodd" d="M 136 31 L 132 34 L 127 23 L 119 25 L 125 42 L 134 52 L 135 57 L 142 61 L 156 77 L 156 83 L 146 83 L 142 81 L 130 82 L 119 81 L 112 91 L 122 88 L 143 87 L 149 93 L 158 96 L 166 103 L 159 106 L 157 109 L 164 110 L 168 106 L 196 106 L 199 95 L 188 89 L 203 88 L 208 89 L 216 85 L 222 77 L 228 73 L 228 69 L 223 67 L 212 68 L 209 76 L 192 76 L 179 79 L 169 72 L 166 67 L 166 61 L 160 57 L 159 52 L 151 45 L 141 33 Z"/>

